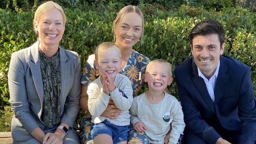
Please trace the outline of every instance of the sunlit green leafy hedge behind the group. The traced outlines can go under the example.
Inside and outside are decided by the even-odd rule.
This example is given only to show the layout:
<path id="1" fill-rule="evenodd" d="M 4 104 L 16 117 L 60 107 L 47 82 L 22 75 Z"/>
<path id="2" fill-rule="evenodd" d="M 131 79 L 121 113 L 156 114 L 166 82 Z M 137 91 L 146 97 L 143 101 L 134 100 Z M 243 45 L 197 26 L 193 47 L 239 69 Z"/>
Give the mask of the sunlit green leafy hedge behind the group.
<path id="1" fill-rule="evenodd" d="M 147 11 L 141 7 L 143 11 Z M 88 55 L 104 41 L 113 41 L 113 20 L 117 11 L 82 12 L 79 9 L 64 9 L 67 15 L 63 48 L 80 54 L 83 66 Z M 8 105 L 9 91 L 7 72 L 11 54 L 33 44 L 36 40 L 32 19 L 34 12 L 15 13 L 0 9 L 0 105 Z M 181 6 L 171 11 L 154 11 L 145 15 L 145 42 L 134 49 L 150 59 L 165 59 L 173 69 L 191 56 L 189 31 L 201 20 L 214 19 L 226 30 L 224 54 L 234 57 L 251 67 L 254 95 L 256 94 L 256 14 L 241 8 L 225 8 L 220 12 L 203 8 Z M 143 88 L 142 92 L 147 90 Z M 175 81 L 169 87 L 178 97 Z"/>

